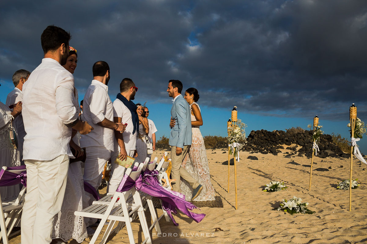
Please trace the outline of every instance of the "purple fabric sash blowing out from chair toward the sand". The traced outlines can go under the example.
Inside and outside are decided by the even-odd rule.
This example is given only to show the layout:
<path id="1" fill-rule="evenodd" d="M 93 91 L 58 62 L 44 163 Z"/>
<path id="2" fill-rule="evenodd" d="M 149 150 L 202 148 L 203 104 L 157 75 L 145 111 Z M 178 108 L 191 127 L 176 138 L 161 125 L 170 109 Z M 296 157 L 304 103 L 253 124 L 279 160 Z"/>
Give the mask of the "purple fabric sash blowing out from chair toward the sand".
<path id="1" fill-rule="evenodd" d="M 205 217 L 205 214 L 190 212 L 189 210 L 197 209 L 197 207 L 194 204 L 187 202 L 185 200 L 185 195 L 162 187 L 156 177 L 158 174 L 157 170 L 150 171 L 149 169 L 146 169 L 145 172 L 143 172 L 143 175 L 139 175 L 138 179 L 135 181 L 125 174 L 116 191 L 128 191 L 135 186 L 135 189 L 138 191 L 142 191 L 150 196 L 155 196 L 156 198 L 161 199 L 162 207 L 167 211 L 167 214 L 170 216 L 174 225 L 177 226 L 178 224 L 173 218 L 172 212 L 177 214 L 177 209 L 199 223 Z"/>

